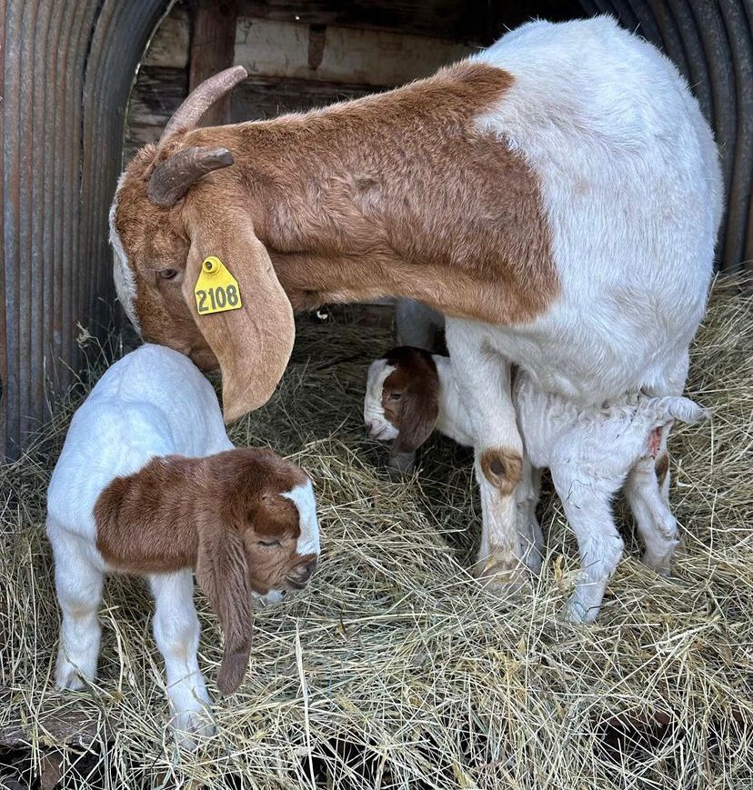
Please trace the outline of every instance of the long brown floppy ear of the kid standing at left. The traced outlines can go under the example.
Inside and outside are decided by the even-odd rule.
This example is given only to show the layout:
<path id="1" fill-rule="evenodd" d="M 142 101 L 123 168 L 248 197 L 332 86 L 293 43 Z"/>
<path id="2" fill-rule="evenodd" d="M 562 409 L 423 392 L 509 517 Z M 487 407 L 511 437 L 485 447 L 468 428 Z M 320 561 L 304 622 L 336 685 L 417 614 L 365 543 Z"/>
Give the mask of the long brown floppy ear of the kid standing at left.
<path id="1" fill-rule="evenodd" d="M 236 530 L 199 529 L 196 578 L 225 635 L 217 688 L 231 694 L 246 675 L 254 625 L 246 552 Z"/>

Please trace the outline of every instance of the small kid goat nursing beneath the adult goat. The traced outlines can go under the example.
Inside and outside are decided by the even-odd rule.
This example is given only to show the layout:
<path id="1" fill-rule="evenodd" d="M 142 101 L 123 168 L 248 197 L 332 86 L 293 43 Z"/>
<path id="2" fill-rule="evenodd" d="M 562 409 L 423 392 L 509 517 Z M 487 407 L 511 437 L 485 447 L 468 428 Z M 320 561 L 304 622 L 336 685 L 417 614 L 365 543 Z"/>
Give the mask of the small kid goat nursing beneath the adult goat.
<path id="1" fill-rule="evenodd" d="M 626 495 L 646 545 L 643 561 L 667 574 L 678 544 L 677 523 L 660 492 L 667 468 L 655 469 L 654 459 L 673 420 L 696 423 L 708 412 L 676 396 L 638 395 L 605 408 L 577 407 L 541 392 L 519 369 L 513 403 L 526 450 L 523 463 L 529 466 L 521 470 L 524 485 L 517 495 L 521 555 L 532 568 L 540 565 L 542 536 L 535 509 L 539 470 L 548 467 L 576 534 L 582 565 L 567 617 L 595 620 L 623 549 L 612 497 L 632 472 Z M 371 364 L 364 421 L 374 438 L 394 439 L 398 452 L 417 449 L 435 429 L 461 445 L 473 445 L 449 357 L 419 348 L 402 346 Z M 492 465 L 485 472 L 494 475 L 497 470 Z"/>

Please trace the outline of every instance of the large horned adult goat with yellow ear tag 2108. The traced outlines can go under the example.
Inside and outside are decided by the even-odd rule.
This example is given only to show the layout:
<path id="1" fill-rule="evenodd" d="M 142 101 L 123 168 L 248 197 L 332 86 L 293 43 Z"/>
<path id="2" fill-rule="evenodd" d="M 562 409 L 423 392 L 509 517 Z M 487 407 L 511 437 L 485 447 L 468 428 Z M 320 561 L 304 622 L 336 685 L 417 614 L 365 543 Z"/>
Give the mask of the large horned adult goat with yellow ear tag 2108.
<path id="1" fill-rule="evenodd" d="M 609 17 L 531 22 L 383 94 L 196 128 L 244 75 L 200 85 L 127 166 L 110 220 L 121 302 L 147 339 L 222 368 L 226 420 L 273 392 L 294 309 L 391 296 L 447 315 L 479 567 L 514 580 L 510 364 L 581 405 L 682 392 L 721 216 L 698 102 Z M 205 315 L 210 256 L 241 298 Z"/>

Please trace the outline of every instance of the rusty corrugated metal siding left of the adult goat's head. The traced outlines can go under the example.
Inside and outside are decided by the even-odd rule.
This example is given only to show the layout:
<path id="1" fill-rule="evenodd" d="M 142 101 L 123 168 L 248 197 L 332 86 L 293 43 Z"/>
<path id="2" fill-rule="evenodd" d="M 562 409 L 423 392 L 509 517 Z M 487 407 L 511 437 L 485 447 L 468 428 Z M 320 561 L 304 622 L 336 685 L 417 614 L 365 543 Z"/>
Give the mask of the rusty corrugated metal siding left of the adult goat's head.
<path id="1" fill-rule="evenodd" d="M 0 447 L 18 455 L 104 335 L 107 209 L 136 65 L 164 0 L 5 0 L 0 164 Z"/>

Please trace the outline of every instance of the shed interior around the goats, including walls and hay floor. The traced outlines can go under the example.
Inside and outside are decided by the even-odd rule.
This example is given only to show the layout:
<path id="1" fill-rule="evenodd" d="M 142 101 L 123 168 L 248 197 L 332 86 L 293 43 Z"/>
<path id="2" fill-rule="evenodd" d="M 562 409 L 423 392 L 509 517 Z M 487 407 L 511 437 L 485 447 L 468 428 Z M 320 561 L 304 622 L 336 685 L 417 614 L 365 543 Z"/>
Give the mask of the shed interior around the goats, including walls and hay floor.
<path id="1" fill-rule="evenodd" d="M 719 265 L 749 269 L 749 0 L 2 4 L 0 447 L 32 453 L 2 467 L 5 476 L 0 469 L 0 577 L 10 591 L 0 616 L 0 785 L 39 774 L 28 786 L 146 787 L 156 776 L 228 787 L 689 787 L 698 776 L 751 786 L 750 678 L 739 672 L 753 611 L 751 299 L 727 286 L 712 300 L 688 383 L 714 406 L 714 425 L 673 439 L 672 498 L 688 544 L 678 576 L 650 575 L 628 530 L 598 625 L 568 630 L 552 616 L 577 550 L 550 497 L 541 521 L 551 555 L 537 595 L 508 610 L 467 585 L 477 543 L 468 525 L 478 521 L 470 456 L 433 439 L 426 475 L 388 480 L 385 448 L 366 440 L 357 409 L 368 355 L 389 333 L 350 323 L 389 324 L 390 308 L 332 309 L 338 325 L 301 316 L 276 398 L 231 426 L 236 444 L 275 445 L 316 475 L 328 555 L 316 595 L 287 602 L 283 617 L 259 614 L 246 691 L 216 706 L 216 752 L 180 765 L 165 738 L 151 605 L 134 580 L 116 578 L 107 592 L 101 688 L 51 687 L 58 613 L 44 497 L 69 405 L 55 412 L 52 438 L 37 437 L 49 404 L 100 346 L 117 355 L 136 342 L 115 305 L 107 245 L 123 162 L 156 140 L 191 86 L 233 63 L 250 76 L 206 123 L 387 89 L 530 16 L 598 11 L 662 45 L 688 76 L 717 132 L 730 195 Z M 214 676 L 216 618 L 200 607 L 202 665 Z M 26 786 L 14 781 L 7 786 Z"/>

